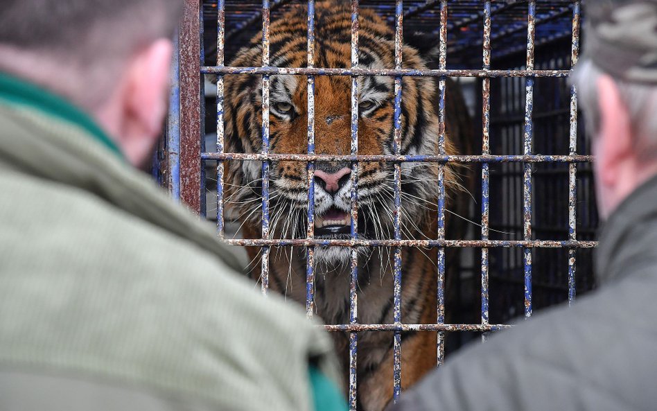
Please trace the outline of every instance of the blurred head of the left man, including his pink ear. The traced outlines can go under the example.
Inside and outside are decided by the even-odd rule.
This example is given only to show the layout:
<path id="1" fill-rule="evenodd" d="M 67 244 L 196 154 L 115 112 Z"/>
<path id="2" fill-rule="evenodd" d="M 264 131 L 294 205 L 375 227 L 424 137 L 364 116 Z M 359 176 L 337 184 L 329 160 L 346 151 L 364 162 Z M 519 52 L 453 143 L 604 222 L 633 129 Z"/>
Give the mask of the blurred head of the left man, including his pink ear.
<path id="1" fill-rule="evenodd" d="M 0 71 L 87 110 L 139 164 L 166 113 L 182 0 L 2 0 Z"/>

